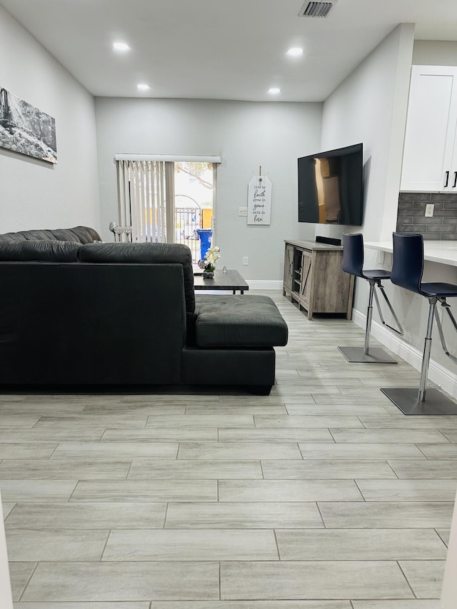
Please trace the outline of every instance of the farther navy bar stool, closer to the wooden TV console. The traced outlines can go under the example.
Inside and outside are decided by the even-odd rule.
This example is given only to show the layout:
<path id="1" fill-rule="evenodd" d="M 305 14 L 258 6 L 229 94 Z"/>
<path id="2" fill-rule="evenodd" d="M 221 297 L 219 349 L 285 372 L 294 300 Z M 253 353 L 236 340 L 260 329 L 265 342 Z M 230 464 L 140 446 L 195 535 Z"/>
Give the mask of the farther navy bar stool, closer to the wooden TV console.
<path id="1" fill-rule="evenodd" d="M 387 294 L 384 291 L 383 285 L 381 281 L 383 279 L 390 279 L 391 272 L 383 271 L 382 268 L 376 268 L 372 271 L 363 271 L 363 235 L 361 233 L 357 233 L 356 235 L 348 235 L 346 233 L 343 234 L 343 262 L 341 263 L 341 268 L 346 273 L 350 273 L 351 275 L 355 275 L 356 277 L 361 277 L 362 279 L 366 279 L 370 284 L 370 295 L 368 297 L 368 309 L 366 311 L 366 326 L 365 326 L 365 344 L 363 347 L 338 347 L 338 349 L 343 353 L 343 356 L 350 362 L 363 362 L 363 363 L 396 363 L 396 360 L 391 358 L 391 356 L 386 353 L 381 348 L 375 347 L 370 348 L 370 332 L 371 332 L 371 318 L 373 317 L 373 296 L 376 301 L 376 306 L 378 308 L 379 317 L 381 318 L 381 322 L 383 326 L 390 328 L 393 332 L 402 335 L 403 328 L 401 328 L 401 324 L 398 321 L 398 318 L 393 311 L 392 305 L 387 298 Z M 381 294 L 384 297 L 384 300 L 387 303 L 388 308 L 390 309 L 393 318 L 396 321 L 398 329 L 392 328 L 384 321 L 383 313 L 381 311 L 381 306 L 379 305 L 378 295 L 375 291 L 375 286 L 381 291 Z"/>

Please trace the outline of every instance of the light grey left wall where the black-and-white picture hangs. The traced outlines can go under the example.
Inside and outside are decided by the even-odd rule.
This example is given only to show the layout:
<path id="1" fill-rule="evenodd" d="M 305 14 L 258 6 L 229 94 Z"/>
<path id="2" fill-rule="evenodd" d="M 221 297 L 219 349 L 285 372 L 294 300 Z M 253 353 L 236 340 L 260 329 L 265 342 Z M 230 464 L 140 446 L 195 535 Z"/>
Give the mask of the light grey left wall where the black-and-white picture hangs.
<path id="1" fill-rule="evenodd" d="M 0 233 L 99 228 L 94 98 L 0 6 L 0 86 L 56 119 L 57 164 L 0 148 Z"/>

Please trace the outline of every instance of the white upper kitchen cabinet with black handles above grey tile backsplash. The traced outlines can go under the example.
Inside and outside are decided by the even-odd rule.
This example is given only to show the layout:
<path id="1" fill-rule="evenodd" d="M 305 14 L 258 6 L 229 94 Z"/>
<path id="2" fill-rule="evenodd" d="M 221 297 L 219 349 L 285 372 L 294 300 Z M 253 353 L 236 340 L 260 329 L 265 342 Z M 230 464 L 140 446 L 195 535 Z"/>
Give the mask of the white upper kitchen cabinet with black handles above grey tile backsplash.
<path id="1" fill-rule="evenodd" d="M 457 68 L 413 66 L 401 190 L 446 191 L 457 125 Z"/>

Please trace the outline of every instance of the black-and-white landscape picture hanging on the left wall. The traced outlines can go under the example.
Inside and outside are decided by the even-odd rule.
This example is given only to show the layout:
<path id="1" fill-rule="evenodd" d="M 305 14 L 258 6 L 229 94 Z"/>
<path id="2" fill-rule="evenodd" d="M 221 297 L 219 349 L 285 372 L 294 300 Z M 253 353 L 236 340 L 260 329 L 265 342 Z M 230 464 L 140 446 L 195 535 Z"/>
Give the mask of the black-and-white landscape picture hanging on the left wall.
<path id="1" fill-rule="evenodd" d="M 0 87 L 0 147 L 56 163 L 56 121 Z"/>

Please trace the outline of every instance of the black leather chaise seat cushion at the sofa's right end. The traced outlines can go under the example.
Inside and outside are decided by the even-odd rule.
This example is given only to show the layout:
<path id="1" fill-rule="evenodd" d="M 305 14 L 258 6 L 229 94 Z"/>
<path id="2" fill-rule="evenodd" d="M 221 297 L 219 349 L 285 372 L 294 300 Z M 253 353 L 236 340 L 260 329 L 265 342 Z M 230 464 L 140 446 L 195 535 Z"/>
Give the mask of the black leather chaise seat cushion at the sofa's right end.
<path id="1" fill-rule="evenodd" d="M 287 343 L 288 328 L 269 296 L 196 295 L 199 347 L 273 347 Z"/>

